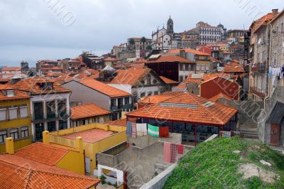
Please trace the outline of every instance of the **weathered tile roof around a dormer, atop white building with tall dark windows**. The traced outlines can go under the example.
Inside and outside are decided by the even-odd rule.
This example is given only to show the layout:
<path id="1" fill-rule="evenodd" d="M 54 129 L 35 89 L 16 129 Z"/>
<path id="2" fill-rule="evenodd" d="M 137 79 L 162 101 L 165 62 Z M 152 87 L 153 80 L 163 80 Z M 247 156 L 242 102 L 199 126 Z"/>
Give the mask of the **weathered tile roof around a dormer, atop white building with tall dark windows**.
<path id="1" fill-rule="evenodd" d="M 31 92 L 32 95 L 70 92 L 70 90 L 63 87 L 59 87 L 57 85 L 53 85 L 53 90 L 43 90 L 38 84 L 44 82 L 55 82 L 55 80 L 48 80 L 45 77 L 28 77 L 27 79 L 20 80 L 11 86 L 15 87 L 17 90 Z"/>

